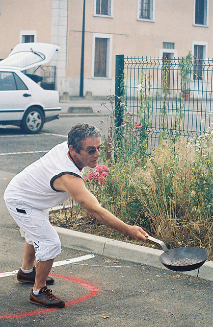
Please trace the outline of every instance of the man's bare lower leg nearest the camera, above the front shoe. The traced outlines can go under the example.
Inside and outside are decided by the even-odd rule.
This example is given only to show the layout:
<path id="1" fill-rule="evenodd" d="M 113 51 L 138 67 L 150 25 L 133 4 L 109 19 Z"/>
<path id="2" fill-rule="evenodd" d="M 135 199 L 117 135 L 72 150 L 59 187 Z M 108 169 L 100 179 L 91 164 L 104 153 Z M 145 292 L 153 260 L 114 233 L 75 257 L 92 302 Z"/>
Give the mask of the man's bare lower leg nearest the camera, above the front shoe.
<path id="1" fill-rule="evenodd" d="M 33 287 L 34 291 L 40 290 L 46 286 L 46 278 L 50 273 L 54 259 L 36 262 L 36 279 Z"/>

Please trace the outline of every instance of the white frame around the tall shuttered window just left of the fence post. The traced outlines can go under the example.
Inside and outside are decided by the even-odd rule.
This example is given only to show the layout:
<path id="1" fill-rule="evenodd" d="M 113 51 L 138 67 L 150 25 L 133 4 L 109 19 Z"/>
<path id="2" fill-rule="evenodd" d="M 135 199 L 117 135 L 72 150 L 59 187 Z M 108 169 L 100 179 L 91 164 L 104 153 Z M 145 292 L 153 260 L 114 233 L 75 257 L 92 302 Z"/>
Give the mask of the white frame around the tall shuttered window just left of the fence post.
<path id="1" fill-rule="evenodd" d="M 109 39 L 107 44 L 107 68 L 106 68 L 106 77 L 96 77 L 94 76 L 94 67 L 95 67 L 95 39 L 96 38 L 107 38 Z M 113 48 L 113 35 L 104 34 L 104 33 L 93 33 L 92 37 L 92 71 L 91 76 L 95 79 L 111 79 L 112 76 L 112 48 Z"/>

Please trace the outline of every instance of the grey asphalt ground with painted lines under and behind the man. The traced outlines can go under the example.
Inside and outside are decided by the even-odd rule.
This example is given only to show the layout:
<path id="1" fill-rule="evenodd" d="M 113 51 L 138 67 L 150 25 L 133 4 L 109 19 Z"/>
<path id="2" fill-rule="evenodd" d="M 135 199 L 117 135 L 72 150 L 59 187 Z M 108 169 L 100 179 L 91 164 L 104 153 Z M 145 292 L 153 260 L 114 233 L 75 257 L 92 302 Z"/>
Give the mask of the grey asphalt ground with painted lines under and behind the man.
<path id="1" fill-rule="evenodd" d="M 32 305 L 31 286 L 18 283 L 15 275 L 2 277 L 20 267 L 24 246 L 4 205 L 4 189 L 14 174 L 65 141 L 76 122 L 96 124 L 99 117 L 64 117 L 47 123 L 39 135 L 0 129 L 0 327 L 212 327 L 212 282 L 135 264 L 134 258 L 126 262 L 95 255 L 52 268 L 58 276 L 51 288 L 67 303 L 53 311 Z M 56 261 L 85 254 L 63 247 Z"/>

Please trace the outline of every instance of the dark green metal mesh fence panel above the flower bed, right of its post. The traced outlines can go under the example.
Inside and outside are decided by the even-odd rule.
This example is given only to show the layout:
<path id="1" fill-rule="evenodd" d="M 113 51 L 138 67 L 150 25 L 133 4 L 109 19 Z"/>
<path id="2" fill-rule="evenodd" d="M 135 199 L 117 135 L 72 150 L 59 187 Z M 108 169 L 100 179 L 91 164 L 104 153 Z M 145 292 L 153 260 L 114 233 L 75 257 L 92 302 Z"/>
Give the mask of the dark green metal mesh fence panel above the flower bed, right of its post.
<path id="1" fill-rule="evenodd" d="M 117 89 L 134 122 L 141 117 L 146 122 L 150 151 L 160 136 L 188 140 L 211 128 L 212 60 L 121 55 L 117 65 L 119 59 L 123 71 L 116 75 Z"/>

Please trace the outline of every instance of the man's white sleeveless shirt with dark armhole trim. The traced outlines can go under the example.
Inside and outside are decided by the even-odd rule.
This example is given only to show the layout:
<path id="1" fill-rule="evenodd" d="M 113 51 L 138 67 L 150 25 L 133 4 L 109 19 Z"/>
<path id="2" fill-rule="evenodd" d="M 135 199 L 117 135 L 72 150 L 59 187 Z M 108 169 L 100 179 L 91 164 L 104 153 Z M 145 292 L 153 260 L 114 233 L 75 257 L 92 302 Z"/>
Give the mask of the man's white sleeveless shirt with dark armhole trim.
<path id="1" fill-rule="evenodd" d="M 67 192 L 57 191 L 52 186 L 57 177 L 66 174 L 83 178 L 84 169 L 75 165 L 65 141 L 13 177 L 4 199 L 41 210 L 51 208 L 70 197 Z"/>

